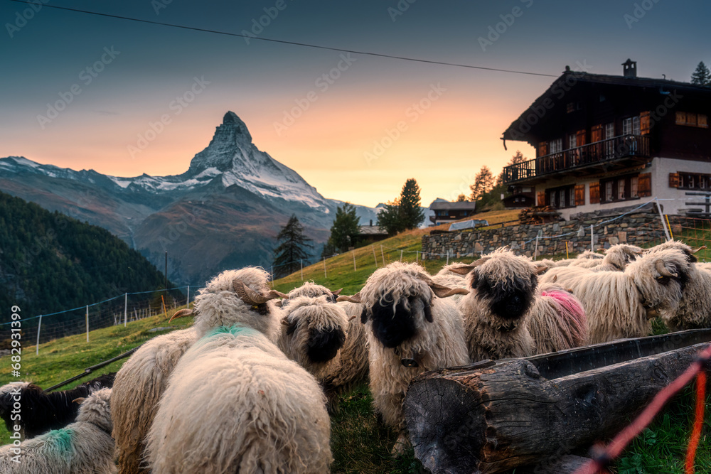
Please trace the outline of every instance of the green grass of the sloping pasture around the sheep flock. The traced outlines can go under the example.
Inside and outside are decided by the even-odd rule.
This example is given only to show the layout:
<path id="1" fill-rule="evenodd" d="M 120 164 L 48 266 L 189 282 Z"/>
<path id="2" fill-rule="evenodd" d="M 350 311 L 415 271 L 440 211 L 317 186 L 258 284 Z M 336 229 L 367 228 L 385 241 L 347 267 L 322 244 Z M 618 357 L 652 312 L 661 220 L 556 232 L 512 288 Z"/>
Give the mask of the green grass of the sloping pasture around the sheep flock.
<path id="1" fill-rule="evenodd" d="M 510 220 L 500 215 L 501 221 Z M 487 213 L 490 223 L 496 217 Z M 412 230 L 397 237 L 374 244 L 373 247 L 356 249 L 353 253 L 343 254 L 326 260 L 327 276 L 324 276 L 323 262 L 304 268 L 304 280 L 314 280 L 331 289 L 343 287 L 343 293 L 358 291 L 368 275 L 378 266 L 400 259 L 415 261 L 415 252 L 421 249 L 421 237 L 429 230 Z M 380 245 L 383 245 L 383 252 Z M 373 256 L 375 250 L 375 257 Z M 356 271 L 353 271 L 355 254 Z M 424 265 L 430 272 L 436 272 L 444 260 L 426 260 Z M 274 281 L 280 291 L 288 292 L 301 284 L 301 273 L 292 274 Z M 170 313 L 169 313 L 170 314 Z M 112 326 L 90 333 L 90 343 L 85 335 L 70 336 L 40 345 L 40 355 L 35 355 L 33 340 L 23 340 L 21 379 L 36 382 L 43 387 L 68 379 L 82 372 L 86 367 L 108 360 L 121 352 L 129 350 L 155 335 L 166 330 L 186 328 L 191 325 L 190 318 L 180 318 L 165 329 L 165 316 L 154 316 L 141 321 Z M 151 332 L 154 328 L 164 328 Z M 663 331 L 663 328 L 660 328 Z M 125 360 L 113 362 L 95 375 L 119 369 Z M 0 357 L 0 384 L 11 382 L 9 357 Z M 82 381 L 74 382 L 70 388 Z M 693 396 L 690 389 L 677 397 L 674 402 L 658 417 L 651 429 L 643 432 L 631 448 L 612 466 L 619 474 L 643 473 L 683 473 L 685 446 L 690 431 L 690 416 L 693 414 Z M 404 458 L 392 460 L 389 449 L 395 441 L 392 431 L 387 429 L 371 407 L 372 397 L 368 387 L 358 387 L 341 398 L 341 411 L 331 419 L 331 446 L 335 458 L 332 473 L 422 473 L 422 465 L 410 452 Z M 708 429 L 708 427 L 707 427 Z M 9 433 L 0 426 L 0 443 L 8 443 Z M 581 453 L 584 454 L 584 453 Z M 697 472 L 711 472 L 711 443 L 702 442 L 697 454 Z M 514 474 L 514 473 L 510 473 Z"/>

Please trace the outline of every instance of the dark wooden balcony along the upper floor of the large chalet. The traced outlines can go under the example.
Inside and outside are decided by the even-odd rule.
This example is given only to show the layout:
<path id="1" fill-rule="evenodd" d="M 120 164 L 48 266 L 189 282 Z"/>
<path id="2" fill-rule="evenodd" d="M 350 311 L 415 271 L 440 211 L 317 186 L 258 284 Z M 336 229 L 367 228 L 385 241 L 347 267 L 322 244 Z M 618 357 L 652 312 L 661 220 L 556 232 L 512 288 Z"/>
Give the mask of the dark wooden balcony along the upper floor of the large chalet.
<path id="1" fill-rule="evenodd" d="M 562 173 L 611 171 L 646 163 L 650 157 L 648 135 L 621 135 L 505 166 L 503 183 L 535 184 Z"/>

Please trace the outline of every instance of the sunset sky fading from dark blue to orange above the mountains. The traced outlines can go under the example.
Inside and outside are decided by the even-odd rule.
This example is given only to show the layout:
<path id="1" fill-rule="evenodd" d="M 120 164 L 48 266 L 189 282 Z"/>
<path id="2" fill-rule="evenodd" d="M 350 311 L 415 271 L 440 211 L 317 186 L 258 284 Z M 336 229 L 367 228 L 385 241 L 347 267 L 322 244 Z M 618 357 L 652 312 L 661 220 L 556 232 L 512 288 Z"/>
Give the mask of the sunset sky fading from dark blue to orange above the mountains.
<path id="1" fill-rule="evenodd" d="M 0 157 L 183 173 L 232 110 L 326 198 L 375 206 L 416 178 L 429 205 L 516 149 L 533 158 L 501 134 L 566 65 L 621 75 L 631 58 L 688 81 L 711 64 L 710 18 L 700 0 L 0 0 Z"/>

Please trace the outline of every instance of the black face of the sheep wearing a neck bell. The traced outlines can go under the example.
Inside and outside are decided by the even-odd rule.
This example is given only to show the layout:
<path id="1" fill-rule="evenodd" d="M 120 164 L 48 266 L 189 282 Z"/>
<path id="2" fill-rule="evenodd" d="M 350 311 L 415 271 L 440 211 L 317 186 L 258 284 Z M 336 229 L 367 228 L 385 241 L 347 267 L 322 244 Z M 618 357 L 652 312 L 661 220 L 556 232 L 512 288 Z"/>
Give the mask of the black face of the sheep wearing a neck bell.
<path id="1" fill-rule="evenodd" d="M 397 348 L 406 340 L 415 337 L 417 324 L 414 315 L 417 312 L 422 311 L 425 318 L 432 321 L 429 304 L 424 303 L 419 296 L 407 298 L 410 309 L 407 309 L 404 300 L 392 301 L 391 293 L 387 293 L 382 298 L 384 304 L 381 304 L 380 301 L 381 299 L 375 301 L 363 319 L 373 318 L 373 335 L 386 348 Z"/>

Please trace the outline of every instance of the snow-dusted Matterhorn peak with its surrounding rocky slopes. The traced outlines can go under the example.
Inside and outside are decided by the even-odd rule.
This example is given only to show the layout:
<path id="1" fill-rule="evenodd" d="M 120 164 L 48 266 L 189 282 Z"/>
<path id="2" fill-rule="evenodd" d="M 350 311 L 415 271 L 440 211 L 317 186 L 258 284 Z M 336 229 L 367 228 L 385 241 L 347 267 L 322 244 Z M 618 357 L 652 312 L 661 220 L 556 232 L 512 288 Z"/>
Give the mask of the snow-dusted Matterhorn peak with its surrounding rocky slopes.
<path id="1" fill-rule="evenodd" d="M 0 158 L 0 190 L 105 227 L 159 268 L 169 252 L 169 276 L 182 284 L 238 266 L 269 269 L 274 237 L 292 214 L 316 254 L 343 204 L 257 149 L 234 112 L 180 175 L 120 178 L 10 156 Z M 376 220 L 376 210 L 356 208 L 362 223 Z"/>

